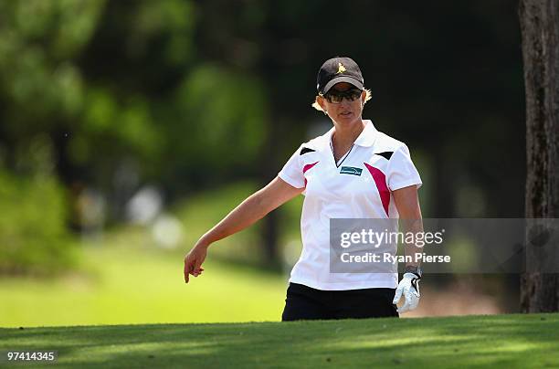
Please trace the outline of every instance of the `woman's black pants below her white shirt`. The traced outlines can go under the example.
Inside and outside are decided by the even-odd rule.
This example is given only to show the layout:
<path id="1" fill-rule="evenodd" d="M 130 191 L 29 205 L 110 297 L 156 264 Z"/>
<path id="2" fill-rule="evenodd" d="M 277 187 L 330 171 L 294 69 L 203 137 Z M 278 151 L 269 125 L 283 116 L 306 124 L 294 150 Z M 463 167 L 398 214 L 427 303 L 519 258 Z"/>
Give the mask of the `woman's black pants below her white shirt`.
<path id="1" fill-rule="evenodd" d="M 399 317 L 395 289 L 316 290 L 290 283 L 281 321 Z"/>

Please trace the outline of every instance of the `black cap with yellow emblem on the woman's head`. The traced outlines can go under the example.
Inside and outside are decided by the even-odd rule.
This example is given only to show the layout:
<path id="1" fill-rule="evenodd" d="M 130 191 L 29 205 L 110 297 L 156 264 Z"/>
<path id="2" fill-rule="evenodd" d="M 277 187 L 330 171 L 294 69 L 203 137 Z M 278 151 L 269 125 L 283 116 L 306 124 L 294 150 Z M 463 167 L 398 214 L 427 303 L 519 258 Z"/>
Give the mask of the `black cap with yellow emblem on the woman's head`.
<path id="1" fill-rule="evenodd" d="M 326 60 L 316 78 L 316 90 L 325 94 L 339 82 L 351 83 L 359 90 L 363 90 L 364 79 L 361 69 L 353 59 L 331 58 Z"/>

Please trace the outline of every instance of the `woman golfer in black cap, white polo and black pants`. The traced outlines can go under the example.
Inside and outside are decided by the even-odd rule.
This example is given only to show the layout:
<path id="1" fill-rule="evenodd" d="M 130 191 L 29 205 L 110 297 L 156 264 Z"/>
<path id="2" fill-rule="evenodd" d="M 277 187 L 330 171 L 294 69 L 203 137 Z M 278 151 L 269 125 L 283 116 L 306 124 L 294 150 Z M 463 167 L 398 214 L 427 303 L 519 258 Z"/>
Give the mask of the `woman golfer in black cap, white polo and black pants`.
<path id="1" fill-rule="evenodd" d="M 421 179 L 407 146 L 362 118 L 370 98 L 351 58 L 331 58 L 319 70 L 313 106 L 332 120 L 329 132 L 301 144 L 269 185 L 250 195 L 202 236 L 185 257 L 185 282 L 197 277 L 207 248 L 255 223 L 296 195 L 301 214 L 301 258 L 293 267 L 282 321 L 397 317 L 417 307 L 418 263 L 396 272 L 331 272 L 330 220 L 413 219 L 421 231 L 417 188 Z M 407 246 L 406 246 L 407 253 Z M 404 296 L 399 309 L 396 303 Z"/>

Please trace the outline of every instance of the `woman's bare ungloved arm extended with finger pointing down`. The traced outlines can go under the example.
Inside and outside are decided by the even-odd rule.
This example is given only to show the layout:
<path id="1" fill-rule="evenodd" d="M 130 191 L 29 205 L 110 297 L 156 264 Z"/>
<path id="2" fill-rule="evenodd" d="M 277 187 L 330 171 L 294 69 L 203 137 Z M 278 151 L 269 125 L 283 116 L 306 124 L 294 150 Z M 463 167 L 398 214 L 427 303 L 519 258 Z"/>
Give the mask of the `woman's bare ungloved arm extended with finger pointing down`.
<path id="1" fill-rule="evenodd" d="M 197 277 L 204 270 L 201 266 L 206 258 L 207 248 L 212 243 L 254 224 L 270 211 L 301 194 L 303 190 L 304 187 L 293 187 L 276 177 L 264 188 L 248 196 L 215 227 L 200 237 L 195 247 L 185 256 L 185 283 L 188 283 L 189 274 Z"/>

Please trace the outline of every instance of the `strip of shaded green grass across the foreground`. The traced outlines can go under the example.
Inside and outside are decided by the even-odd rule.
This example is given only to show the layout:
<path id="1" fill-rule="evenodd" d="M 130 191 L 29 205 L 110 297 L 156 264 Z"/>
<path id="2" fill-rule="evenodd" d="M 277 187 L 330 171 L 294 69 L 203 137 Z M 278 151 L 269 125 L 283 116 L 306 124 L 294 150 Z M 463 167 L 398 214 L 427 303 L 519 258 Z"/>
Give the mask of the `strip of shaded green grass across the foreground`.
<path id="1" fill-rule="evenodd" d="M 57 367 L 558 367 L 559 314 L 0 329 Z"/>

